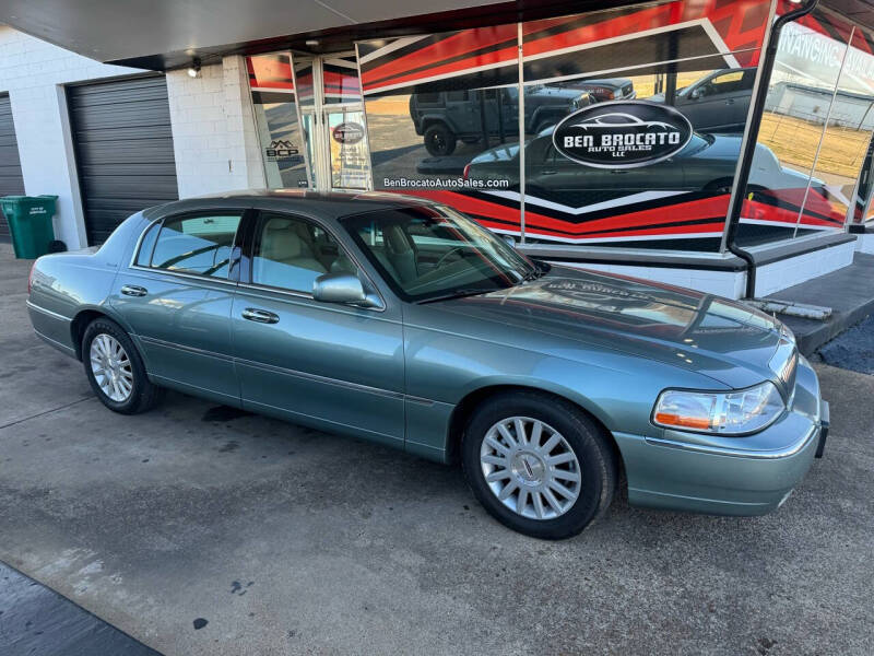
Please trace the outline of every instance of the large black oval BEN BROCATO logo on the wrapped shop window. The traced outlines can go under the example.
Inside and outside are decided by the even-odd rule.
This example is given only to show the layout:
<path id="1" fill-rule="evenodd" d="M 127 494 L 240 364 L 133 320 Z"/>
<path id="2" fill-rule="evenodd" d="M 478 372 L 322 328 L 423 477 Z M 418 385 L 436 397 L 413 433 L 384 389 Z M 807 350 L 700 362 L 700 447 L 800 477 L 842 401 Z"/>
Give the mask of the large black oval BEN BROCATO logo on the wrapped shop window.
<path id="1" fill-rule="evenodd" d="M 559 153 L 597 168 L 635 168 L 676 154 L 692 124 L 666 105 L 646 101 L 600 103 L 566 116 L 553 131 Z"/>

